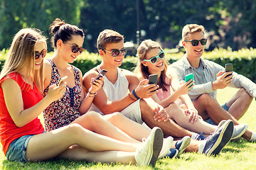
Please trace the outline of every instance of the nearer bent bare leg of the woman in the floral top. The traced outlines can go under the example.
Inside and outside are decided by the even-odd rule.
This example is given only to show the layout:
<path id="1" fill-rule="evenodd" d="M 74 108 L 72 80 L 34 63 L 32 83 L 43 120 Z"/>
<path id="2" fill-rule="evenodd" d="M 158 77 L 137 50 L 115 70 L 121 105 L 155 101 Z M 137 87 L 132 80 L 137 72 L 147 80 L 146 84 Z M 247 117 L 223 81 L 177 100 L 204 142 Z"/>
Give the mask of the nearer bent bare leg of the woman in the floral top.
<path id="1" fill-rule="evenodd" d="M 134 138 L 130 137 L 129 134 L 127 135 L 122 130 L 119 130 L 119 128 L 115 127 L 109 121 L 107 121 L 104 118 L 104 116 L 96 112 L 85 113 L 85 115 L 82 115 L 80 116 L 80 118 L 77 118 L 76 120 L 74 120 L 73 123 L 78 123 L 79 125 L 82 125 L 82 127 L 87 130 L 91 130 L 100 135 L 105 135 L 107 137 L 111 137 L 116 140 L 121 140 L 124 142 L 139 143 L 138 140 L 134 140 Z M 150 131 L 149 131 L 149 134 L 150 134 Z M 146 137 L 148 137 L 149 134 Z"/>

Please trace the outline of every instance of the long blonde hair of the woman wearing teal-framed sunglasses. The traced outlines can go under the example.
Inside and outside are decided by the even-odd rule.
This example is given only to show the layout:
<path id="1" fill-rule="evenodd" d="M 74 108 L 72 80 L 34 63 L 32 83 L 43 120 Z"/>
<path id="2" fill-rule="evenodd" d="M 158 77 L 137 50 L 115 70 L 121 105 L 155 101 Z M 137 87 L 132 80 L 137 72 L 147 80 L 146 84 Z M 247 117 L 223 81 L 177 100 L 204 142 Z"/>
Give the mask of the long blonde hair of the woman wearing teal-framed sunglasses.
<path id="1" fill-rule="evenodd" d="M 141 74 L 142 77 L 144 77 L 144 79 L 149 79 L 149 68 L 144 66 L 142 62 L 146 59 L 147 52 L 149 52 L 149 50 L 153 48 L 159 48 L 161 51 L 164 51 L 161 45 L 158 42 L 155 42 L 153 40 L 142 41 L 142 43 L 139 45 L 137 49 L 137 55 L 139 56 L 139 61 L 137 63 L 137 67 L 134 70 L 134 73 L 137 75 Z M 166 70 L 168 67 L 168 62 L 166 61 L 166 59 L 164 61 L 165 61 L 164 70 L 161 72 L 161 76 L 158 84 L 161 89 L 163 89 L 164 91 L 167 91 L 165 86 L 168 86 L 168 84 L 166 84 L 165 79 L 166 79 Z"/>

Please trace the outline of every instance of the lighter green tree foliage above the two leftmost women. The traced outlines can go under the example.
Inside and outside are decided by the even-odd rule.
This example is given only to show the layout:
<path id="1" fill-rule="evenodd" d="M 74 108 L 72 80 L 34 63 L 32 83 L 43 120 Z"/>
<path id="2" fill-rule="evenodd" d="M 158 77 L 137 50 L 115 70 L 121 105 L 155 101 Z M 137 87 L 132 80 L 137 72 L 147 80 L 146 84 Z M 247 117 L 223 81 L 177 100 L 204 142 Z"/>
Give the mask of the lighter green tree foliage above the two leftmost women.
<path id="1" fill-rule="evenodd" d="M 82 0 L 0 1 L 0 49 L 11 44 L 21 28 L 38 28 L 48 35 L 48 26 L 55 18 L 80 23 Z"/>

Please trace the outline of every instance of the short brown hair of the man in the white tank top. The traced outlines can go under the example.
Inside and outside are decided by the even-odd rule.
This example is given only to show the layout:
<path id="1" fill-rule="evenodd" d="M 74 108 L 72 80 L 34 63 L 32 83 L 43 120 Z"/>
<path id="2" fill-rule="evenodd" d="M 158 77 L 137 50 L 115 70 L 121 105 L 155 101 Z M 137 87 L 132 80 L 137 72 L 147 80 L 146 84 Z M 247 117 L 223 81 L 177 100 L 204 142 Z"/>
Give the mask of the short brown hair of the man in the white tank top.
<path id="1" fill-rule="evenodd" d="M 124 36 L 117 33 L 117 31 L 103 30 L 97 38 L 97 49 L 105 50 L 108 43 L 117 43 L 120 41 L 124 41 Z"/>

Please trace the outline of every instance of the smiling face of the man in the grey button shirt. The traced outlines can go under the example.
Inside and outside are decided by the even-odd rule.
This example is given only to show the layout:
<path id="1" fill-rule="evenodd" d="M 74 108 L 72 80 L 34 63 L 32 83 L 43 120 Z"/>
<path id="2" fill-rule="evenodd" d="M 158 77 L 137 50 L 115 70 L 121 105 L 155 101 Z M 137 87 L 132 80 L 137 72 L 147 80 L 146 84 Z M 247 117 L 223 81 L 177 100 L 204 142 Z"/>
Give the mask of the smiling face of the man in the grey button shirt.
<path id="1" fill-rule="evenodd" d="M 205 38 L 203 32 L 195 32 L 189 34 L 186 40 L 201 40 L 203 38 Z M 205 49 L 205 45 L 201 45 L 201 42 L 197 46 L 193 46 L 191 42 L 182 41 L 182 45 L 186 49 L 188 59 L 200 58 Z"/>

